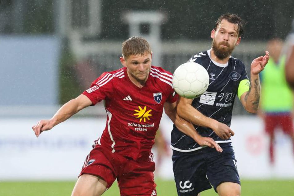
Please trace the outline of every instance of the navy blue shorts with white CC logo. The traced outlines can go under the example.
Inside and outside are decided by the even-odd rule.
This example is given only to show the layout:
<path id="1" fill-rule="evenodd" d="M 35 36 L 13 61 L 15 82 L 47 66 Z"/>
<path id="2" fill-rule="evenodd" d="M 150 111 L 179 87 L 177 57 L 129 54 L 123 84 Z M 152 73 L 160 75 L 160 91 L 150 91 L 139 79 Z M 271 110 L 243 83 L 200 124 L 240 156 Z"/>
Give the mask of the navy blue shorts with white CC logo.
<path id="1" fill-rule="evenodd" d="M 222 182 L 240 183 L 231 143 L 219 143 L 223 152 L 205 147 L 193 152 L 173 150 L 173 173 L 179 196 L 197 195 Z"/>

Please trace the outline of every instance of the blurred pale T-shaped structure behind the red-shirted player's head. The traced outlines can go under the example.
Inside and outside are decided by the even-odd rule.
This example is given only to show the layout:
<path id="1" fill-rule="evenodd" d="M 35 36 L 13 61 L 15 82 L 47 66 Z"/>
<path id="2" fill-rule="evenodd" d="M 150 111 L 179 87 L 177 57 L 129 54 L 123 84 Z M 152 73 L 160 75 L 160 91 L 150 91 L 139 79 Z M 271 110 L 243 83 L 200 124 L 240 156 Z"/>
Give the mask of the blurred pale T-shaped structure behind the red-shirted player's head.
<path id="1" fill-rule="evenodd" d="M 153 52 L 152 65 L 161 66 L 161 39 L 160 25 L 164 22 L 165 16 L 158 11 L 132 11 L 124 15 L 125 21 L 129 24 L 129 37 L 144 37 Z M 142 26 L 147 26 L 147 31 L 142 31 Z"/>

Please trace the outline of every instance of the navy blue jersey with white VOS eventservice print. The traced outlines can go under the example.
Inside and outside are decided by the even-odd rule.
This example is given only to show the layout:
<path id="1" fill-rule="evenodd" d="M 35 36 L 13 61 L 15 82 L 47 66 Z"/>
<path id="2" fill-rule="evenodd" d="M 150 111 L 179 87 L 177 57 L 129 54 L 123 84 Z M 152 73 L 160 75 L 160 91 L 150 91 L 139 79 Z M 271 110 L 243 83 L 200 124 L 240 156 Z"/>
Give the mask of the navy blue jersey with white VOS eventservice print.
<path id="1" fill-rule="evenodd" d="M 230 126 L 239 83 L 243 79 L 248 79 L 245 65 L 241 60 L 233 57 L 229 58 L 227 64 L 214 62 L 211 60 L 210 50 L 192 56 L 189 61 L 202 65 L 209 75 L 207 91 L 195 98 L 192 106 L 203 115 Z M 210 128 L 195 125 L 194 127 L 200 135 L 211 137 L 217 143 L 231 142 L 230 138 L 227 140 L 219 138 Z M 171 145 L 172 149 L 183 152 L 202 148 L 175 126 L 173 126 Z"/>

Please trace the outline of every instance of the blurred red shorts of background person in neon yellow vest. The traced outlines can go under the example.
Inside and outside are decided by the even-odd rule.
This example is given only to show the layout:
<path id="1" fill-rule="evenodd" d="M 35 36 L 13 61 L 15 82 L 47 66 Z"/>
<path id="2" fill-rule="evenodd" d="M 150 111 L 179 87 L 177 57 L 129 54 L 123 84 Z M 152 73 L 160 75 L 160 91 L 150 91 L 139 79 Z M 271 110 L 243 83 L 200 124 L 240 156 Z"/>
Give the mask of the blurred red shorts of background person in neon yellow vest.
<path id="1" fill-rule="evenodd" d="M 290 113 L 266 114 L 264 122 L 268 134 L 273 134 L 277 127 L 281 127 L 286 134 L 293 134 L 293 119 Z"/>

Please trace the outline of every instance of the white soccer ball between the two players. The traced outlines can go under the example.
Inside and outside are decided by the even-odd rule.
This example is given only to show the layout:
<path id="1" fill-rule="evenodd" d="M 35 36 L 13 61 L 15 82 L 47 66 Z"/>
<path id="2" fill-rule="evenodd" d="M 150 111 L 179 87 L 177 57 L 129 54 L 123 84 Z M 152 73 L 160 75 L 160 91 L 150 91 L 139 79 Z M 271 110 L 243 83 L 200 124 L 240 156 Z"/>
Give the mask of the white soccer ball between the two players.
<path id="1" fill-rule="evenodd" d="M 173 73 L 173 87 L 177 94 L 188 99 L 201 96 L 208 88 L 207 70 L 198 63 L 186 62 Z"/>

